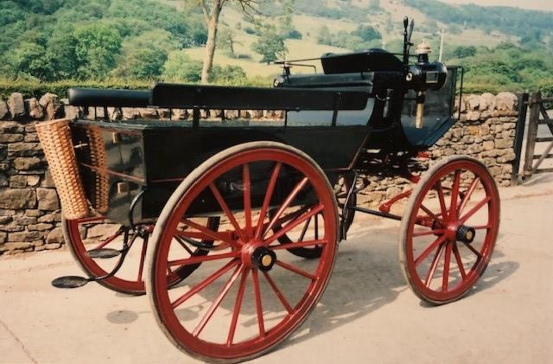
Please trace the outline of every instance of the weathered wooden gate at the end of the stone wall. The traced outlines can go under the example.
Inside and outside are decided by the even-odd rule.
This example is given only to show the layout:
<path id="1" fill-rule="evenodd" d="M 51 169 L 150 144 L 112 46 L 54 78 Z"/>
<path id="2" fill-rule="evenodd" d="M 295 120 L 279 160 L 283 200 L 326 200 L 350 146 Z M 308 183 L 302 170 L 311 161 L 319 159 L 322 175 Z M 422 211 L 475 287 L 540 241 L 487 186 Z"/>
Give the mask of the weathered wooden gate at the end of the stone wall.
<path id="1" fill-rule="evenodd" d="M 513 184 L 518 184 L 519 181 L 520 152 L 528 107 L 530 107 L 530 115 L 528 118 L 528 132 L 526 134 L 524 167 L 520 174 L 520 179 L 523 181 L 527 180 L 537 173 L 553 173 L 553 168 L 540 168 L 544 160 L 553 158 L 553 153 L 551 153 L 553 149 L 553 118 L 547 113 L 547 111 L 553 110 L 553 97 L 542 98 L 541 92 L 536 92 L 529 98 L 528 93 L 525 93 L 519 96 L 519 121 L 514 145 L 517 159 L 513 165 Z M 549 129 L 547 136 L 539 136 L 538 126 L 540 125 L 546 125 Z M 542 143 L 548 143 L 545 144 L 544 150 L 541 150 L 541 147 L 544 146 Z"/>

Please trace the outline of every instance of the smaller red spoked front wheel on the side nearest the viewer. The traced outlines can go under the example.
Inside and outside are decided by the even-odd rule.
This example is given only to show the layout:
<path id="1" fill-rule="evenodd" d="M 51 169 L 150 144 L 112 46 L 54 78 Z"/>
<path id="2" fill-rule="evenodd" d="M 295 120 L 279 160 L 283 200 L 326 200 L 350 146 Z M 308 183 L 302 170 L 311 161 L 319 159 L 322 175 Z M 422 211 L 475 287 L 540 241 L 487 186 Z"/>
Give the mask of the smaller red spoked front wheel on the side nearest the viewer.
<path id="1" fill-rule="evenodd" d="M 460 299 L 492 257 L 499 229 L 499 193 L 477 159 L 453 156 L 421 178 L 405 207 L 401 268 L 421 299 Z"/>

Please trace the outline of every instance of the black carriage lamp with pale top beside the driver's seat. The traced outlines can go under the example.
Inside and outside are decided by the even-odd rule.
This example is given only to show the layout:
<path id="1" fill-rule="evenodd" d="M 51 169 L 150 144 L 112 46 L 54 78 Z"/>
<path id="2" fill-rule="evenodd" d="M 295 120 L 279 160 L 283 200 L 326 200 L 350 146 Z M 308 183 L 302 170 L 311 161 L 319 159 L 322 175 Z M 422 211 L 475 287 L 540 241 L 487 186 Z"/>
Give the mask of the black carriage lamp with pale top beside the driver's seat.
<path id="1" fill-rule="evenodd" d="M 430 44 L 423 40 L 415 49 L 417 63 L 409 66 L 405 76 L 410 89 L 416 91 L 416 120 L 415 128 L 422 128 L 424 116 L 424 102 L 426 91 L 439 90 L 444 86 L 447 77 L 447 68 L 440 62 L 429 62 L 428 55 L 432 53 Z"/>

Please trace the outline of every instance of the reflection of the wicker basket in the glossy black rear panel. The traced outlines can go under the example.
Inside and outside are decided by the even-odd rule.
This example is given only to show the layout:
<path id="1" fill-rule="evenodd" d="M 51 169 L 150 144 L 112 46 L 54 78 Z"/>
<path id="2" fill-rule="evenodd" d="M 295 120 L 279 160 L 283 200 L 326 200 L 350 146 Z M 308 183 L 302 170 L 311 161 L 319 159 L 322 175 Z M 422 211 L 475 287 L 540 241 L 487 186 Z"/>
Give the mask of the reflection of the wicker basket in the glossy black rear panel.
<path id="1" fill-rule="evenodd" d="M 88 142 L 90 143 L 90 159 L 94 167 L 107 168 L 106 148 L 100 128 L 87 129 Z M 92 197 L 92 206 L 100 213 L 108 209 L 109 178 L 105 174 L 95 173 L 95 195 Z"/>

